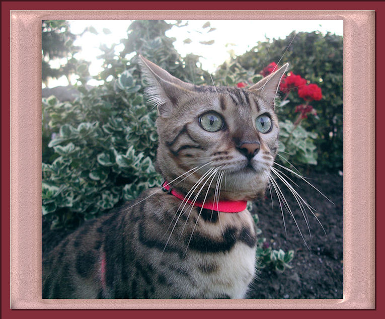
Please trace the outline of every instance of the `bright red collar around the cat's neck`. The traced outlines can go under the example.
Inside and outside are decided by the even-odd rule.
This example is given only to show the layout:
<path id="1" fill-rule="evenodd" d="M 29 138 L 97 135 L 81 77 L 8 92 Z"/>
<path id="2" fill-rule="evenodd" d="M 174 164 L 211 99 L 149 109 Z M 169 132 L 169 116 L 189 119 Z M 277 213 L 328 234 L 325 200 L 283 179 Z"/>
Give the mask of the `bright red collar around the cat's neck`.
<path id="1" fill-rule="evenodd" d="M 173 189 L 169 183 L 166 181 L 163 182 L 162 184 L 162 189 L 165 191 L 168 191 L 169 194 L 174 195 L 175 197 L 179 198 L 180 200 L 184 200 L 185 196 L 181 193 L 179 193 L 177 190 Z M 186 201 L 186 200 L 185 200 Z M 186 201 L 189 204 L 192 204 L 192 200 L 187 200 Z M 224 201 L 221 200 L 218 203 L 205 203 L 202 205 L 202 203 L 195 202 L 194 206 L 197 207 L 203 207 L 209 210 L 215 210 L 215 211 L 220 211 L 222 213 L 239 213 L 243 210 L 246 209 L 247 201 L 241 200 L 241 201 Z"/>

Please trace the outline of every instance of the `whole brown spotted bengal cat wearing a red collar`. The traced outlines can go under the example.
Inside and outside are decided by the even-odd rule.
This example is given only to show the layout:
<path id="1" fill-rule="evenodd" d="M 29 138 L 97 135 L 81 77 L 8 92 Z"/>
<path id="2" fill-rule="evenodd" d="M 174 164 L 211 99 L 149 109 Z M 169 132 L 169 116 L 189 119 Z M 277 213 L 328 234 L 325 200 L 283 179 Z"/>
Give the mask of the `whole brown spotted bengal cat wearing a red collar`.
<path id="1" fill-rule="evenodd" d="M 195 86 L 139 56 L 157 106 L 162 188 L 86 222 L 43 259 L 43 298 L 245 298 L 277 153 L 287 64 L 247 89 Z"/>

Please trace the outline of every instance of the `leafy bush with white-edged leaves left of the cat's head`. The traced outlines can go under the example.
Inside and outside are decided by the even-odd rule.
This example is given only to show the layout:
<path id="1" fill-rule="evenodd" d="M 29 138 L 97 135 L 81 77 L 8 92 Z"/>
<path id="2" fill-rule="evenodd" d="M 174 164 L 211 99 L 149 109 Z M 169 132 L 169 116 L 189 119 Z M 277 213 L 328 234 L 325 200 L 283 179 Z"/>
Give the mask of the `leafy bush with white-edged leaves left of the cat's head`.
<path id="1" fill-rule="evenodd" d="M 202 82 L 207 72 L 198 57 L 182 59 L 164 34 L 169 28 L 165 21 L 133 22 L 119 56 L 101 48 L 103 86 L 90 89 L 79 74 L 77 99 L 42 99 L 42 213 L 51 227 L 74 227 L 161 184 L 153 165 L 157 110 L 143 100 L 136 56 L 127 57 L 141 52 L 184 81 Z"/>

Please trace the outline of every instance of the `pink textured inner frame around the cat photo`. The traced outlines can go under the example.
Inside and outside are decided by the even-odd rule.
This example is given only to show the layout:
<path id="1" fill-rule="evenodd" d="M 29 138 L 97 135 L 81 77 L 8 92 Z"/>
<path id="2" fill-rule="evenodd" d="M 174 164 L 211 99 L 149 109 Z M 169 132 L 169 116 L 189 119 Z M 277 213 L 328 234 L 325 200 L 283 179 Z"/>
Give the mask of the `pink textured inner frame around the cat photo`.
<path id="1" fill-rule="evenodd" d="M 4 3 L 2 3 L 2 7 Z M 63 4 L 63 3 L 62 3 Z M 81 5 L 81 3 L 76 3 Z M 70 3 L 70 7 L 76 7 Z M 143 3 L 142 3 L 143 4 Z M 157 3 L 154 3 L 154 6 Z M 205 6 L 208 3 L 205 3 Z M 83 4 L 84 5 L 84 4 Z M 159 5 L 159 3 L 158 3 Z M 113 8 L 112 3 L 107 3 Z M 11 22 L 10 111 L 2 108 L 3 120 L 11 120 L 11 216 L 2 204 L 2 243 L 11 224 L 11 281 L 2 267 L 2 312 L 4 283 L 10 283 L 11 308 L 152 308 L 152 309 L 373 309 L 374 295 L 374 12 L 365 11 L 30 11 L 9 6 Z M 17 7 L 17 6 L 15 6 Z M 45 5 L 45 8 L 50 6 Z M 174 6 L 177 7 L 177 6 Z M 216 6 L 218 7 L 218 6 Z M 237 3 L 237 8 L 241 8 Z M 270 3 L 270 7 L 274 7 Z M 303 6 L 304 7 L 304 6 Z M 329 6 L 331 7 L 331 6 Z M 350 5 L 352 7 L 352 5 Z M 68 8 L 68 7 L 67 7 Z M 293 8 L 290 6 L 290 8 Z M 320 6 L 322 8 L 322 6 Z M 140 8 L 133 8 L 140 9 Z M 162 6 L 162 9 L 167 9 Z M 242 9 L 242 8 L 241 8 Z M 282 8 L 285 9 L 285 8 Z M 295 9 L 295 8 L 294 8 Z M 101 9 L 100 9 L 101 10 Z M 4 11 L 3 11 L 4 12 Z M 86 300 L 40 299 L 41 297 L 41 22 L 42 19 L 98 20 L 344 20 L 344 298 L 343 299 L 243 299 L 243 300 Z M 65 17 L 65 18 L 64 18 Z M 123 18 L 124 17 L 124 18 Z M 225 17 L 225 18 L 224 18 Z M 7 19 L 2 19 L 2 33 Z M 9 29 L 8 29 L 9 30 Z M 3 35 L 3 34 L 2 34 Z M 4 37 L 3 37 L 4 39 Z M 7 40 L 7 39 L 6 39 Z M 28 45 L 23 45 L 28 43 Z M 3 47 L 4 47 L 4 43 Z M 3 50 L 2 50 L 3 51 Z M 4 65 L 4 55 L 2 55 Z M 360 74 L 360 81 L 354 81 Z M 2 73 L 3 84 L 7 80 Z M 9 81 L 9 78 L 8 78 Z M 378 82 L 377 82 L 378 85 Z M 4 89 L 4 88 L 3 88 Z M 4 92 L 4 91 L 3 91 Z M 4 95 L 3 95 L 4 96 Z M 6 101 L 7 102 L 7 101 Z M 359 106 L 359 108 L 357 107 Z M 377 112 L 378 115 L 378 112 Z M 357 154 L 361 154 L 358 156 Z M 3 156 L 2 156 L 3 157 Z M 368 165 L 369 163 L 369 165 Z M 7 195 L 2 159 L 2 199 Z M 357 174 L 358 173 L 358 174 Z M 361 185 L 360 188 L 357 186 Z M 3 197 L 4 196 L 4 197 Z M 37 196 L 37 197 L 36 197 Z M 4 203 L 4 201 L 3 201 Z M 9 207 L 8 207 L 9 209 Z M 9 218 L 9 216 L 8 216 Z M 10 234 L 8 229 L 8 234 Z M 9 239 L 9 238 L 8 238 Z M 6 242 L 8 242 L 6 240 Z M 9 243 L 9 242 L 8 242 Z M 4 246 L 2 260 L 4 261 Z M 28 266 L 28 267 L 27 267 Z M 9 290 L 8 290 L 9 292 Z"/>

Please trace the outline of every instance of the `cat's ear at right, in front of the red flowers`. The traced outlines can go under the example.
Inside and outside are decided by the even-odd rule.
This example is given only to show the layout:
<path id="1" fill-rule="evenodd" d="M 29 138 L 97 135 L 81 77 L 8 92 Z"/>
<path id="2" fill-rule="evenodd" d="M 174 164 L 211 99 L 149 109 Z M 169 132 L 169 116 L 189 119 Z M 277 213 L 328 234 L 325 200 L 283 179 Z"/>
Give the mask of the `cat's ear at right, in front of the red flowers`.
<path id="1" fill-rule="evenodd" d="M 286 72 L 288 66 L 288 63 L 284 64 L 278 70 L 264 77 L 261 79 L 261 81 L 248 88 L 248 90 L 256 91 L 259 94 L 262 94 L 265 100 L 269 101 L 269 103 L 271 103 L 271 105 L 274 107 L 274 99 L 277 95 L 281 78 Z"/>

